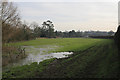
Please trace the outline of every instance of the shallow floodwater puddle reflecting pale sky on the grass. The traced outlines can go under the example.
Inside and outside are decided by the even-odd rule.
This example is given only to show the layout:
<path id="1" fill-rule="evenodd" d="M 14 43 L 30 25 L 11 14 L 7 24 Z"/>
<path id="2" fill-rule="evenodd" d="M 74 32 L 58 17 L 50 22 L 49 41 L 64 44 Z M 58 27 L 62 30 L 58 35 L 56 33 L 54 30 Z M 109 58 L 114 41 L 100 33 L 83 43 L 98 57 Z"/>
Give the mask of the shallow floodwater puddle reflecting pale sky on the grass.
<path id="1" fill-rule="evenodd" d="M 23 47 L 25 47 L 26 54 L 28 56 L 18 62 L 8 64 L 7 66 L 5 66 L 6 68 L 31 64 L 32 62 L 39 63 L 45 59 L 50 59 L 50 58 L 64 58 L 64 57 L 68 57 L 68 55 L 70 54 L 73 54 L 73 52 L 49 53 L 49 51 L 55 50 L 58 46 L 42 46 L 42 47 L 23 46 Z"/>

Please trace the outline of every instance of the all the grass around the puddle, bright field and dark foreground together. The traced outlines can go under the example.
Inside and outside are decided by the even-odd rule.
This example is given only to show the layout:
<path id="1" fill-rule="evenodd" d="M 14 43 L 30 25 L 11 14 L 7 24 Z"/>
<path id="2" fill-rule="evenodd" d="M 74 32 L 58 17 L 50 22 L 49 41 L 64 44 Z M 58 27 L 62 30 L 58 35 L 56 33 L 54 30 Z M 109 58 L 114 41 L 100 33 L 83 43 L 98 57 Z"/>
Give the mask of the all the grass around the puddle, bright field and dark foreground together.
<path id="1" fill-rule="evenodd" d="M 37 39 L 10 45 L 59 45 L 63 47 L 58 51 L 74 51 L 74 54 L 11 68 L 3 72 L 3 78 L 118 78 L 118 52 L 113 40 Z"/>

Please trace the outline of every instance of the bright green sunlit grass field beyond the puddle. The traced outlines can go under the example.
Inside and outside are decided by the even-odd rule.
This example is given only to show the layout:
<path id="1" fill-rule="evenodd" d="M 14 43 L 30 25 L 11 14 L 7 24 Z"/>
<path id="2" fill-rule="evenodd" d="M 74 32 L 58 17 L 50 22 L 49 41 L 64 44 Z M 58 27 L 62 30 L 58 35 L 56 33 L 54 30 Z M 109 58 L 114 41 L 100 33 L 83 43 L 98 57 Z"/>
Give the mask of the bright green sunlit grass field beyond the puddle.
<path id="1" fill-rule="evenodd" d="M 54 38 L 54 39 L 36 39 L 17 43 L 10 43 L 13 46 L 42 46 L 57 45 L 57 52 L 62 51 L 80 51 L 90 46 L 106 41 L 106 39 L 90 39 L 90 38 Z"/>

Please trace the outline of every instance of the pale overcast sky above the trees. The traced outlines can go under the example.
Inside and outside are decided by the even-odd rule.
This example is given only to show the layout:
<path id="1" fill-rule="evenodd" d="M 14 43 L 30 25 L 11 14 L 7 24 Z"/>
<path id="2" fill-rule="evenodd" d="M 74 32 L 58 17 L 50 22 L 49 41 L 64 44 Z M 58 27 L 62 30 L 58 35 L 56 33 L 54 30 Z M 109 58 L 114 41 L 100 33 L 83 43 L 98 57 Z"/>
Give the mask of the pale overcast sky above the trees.
<path id="1" fill-rule="evenodd" d="M 22 20 L 28 23 L 51 20 L 56 30 L 116 31 L 117 2 L 17 2 Z"/>

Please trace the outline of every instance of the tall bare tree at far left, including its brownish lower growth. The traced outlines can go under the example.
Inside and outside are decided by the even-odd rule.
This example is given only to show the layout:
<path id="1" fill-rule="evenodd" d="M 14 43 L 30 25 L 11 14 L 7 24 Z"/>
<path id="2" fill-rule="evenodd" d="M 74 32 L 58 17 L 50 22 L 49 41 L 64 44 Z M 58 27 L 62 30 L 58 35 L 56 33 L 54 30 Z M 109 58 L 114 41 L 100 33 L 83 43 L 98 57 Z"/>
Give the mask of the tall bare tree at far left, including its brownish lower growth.
<path id="1" fill-rule="evenodd" d="M 9 42 L 15 35 L 21 21 L 17 10 L 12 2 L 1 2 L 1 21 L 2 21 L 2 41 Z"/>

